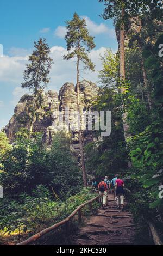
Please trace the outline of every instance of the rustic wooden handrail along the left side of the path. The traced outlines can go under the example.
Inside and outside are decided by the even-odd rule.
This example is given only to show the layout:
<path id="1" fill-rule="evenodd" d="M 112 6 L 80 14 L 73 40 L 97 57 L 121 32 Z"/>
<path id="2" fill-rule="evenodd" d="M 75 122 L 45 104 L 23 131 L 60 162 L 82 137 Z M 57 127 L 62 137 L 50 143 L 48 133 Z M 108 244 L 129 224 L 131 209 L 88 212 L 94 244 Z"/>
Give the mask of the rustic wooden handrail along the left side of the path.
<path id="1" fill-rule="evenodd" d="M 70 214 L 67 218 L 65 218 L 65 220 L 62 220 L 62 221 L 60 221 L 60 222 L 58 222 L 58 223 L 52 225 L 52 226 L 49 227 L 49 228 L 43 229 L 43 230 L 40 231 L 39 233 L 37 233 L 37 234 L 35 234 L 35 235 L 33 235 L 33 236 L 30 236 L 28 239 L 26 239 L 26 240 L 24 240 L 24 241 L 22 241 L 22 242 L 20 242 L 20 243 L 17 243 L 17 245 L 28 245 L 30 242 L 34 242 L 34 241 L 36 241 L 37 239 L 39 239 L 41 236 L 43 236 L 43 235 L 45 235 L 45 234 L 51 232 L 51 231 L 54 230 L 54 229 L 57 229 L 57 228 L 60 227 L 61 225 L 64 225 L 65 223 L 67 223 L 68 221 L 70 221 L 70 219 L 71 219 L 74 215 L 76 215 L 77 212 L 78 212 L 80 209 L 82 209 L 85 205 L 94 202 L 94 201 L 95 201 L 96 199 L 98 199 L 99 197 L 100 197 L 100 196 L 94 197 L 94 198 L 92 198 L 91 200 L 89 200 L 89 201 L 87 201 L 87 202 L 85 202 L 85 203 L 79 205 L 78 208 L 72 212 L 72 214 Z"/>

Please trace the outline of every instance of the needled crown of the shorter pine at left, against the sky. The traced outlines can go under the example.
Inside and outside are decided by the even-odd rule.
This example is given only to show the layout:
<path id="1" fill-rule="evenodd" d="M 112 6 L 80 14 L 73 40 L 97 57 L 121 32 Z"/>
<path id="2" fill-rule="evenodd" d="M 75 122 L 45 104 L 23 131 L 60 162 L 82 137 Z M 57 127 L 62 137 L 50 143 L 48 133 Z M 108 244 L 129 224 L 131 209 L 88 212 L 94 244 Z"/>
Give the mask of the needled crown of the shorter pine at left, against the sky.
<path id="1" fill-rule="evenodd" d="M 49 72 L 51 70 L 52 59 L 49 56 L 50 48 L 46 39 L 40 38 L 34 42 L 35 50 L 29 56 L 29 64 L 26 64 L 24 70 L 24 82 L 22 88 L 33 89 L 34 95 L 38 95 L 47 86 L 49 82 Z"/>

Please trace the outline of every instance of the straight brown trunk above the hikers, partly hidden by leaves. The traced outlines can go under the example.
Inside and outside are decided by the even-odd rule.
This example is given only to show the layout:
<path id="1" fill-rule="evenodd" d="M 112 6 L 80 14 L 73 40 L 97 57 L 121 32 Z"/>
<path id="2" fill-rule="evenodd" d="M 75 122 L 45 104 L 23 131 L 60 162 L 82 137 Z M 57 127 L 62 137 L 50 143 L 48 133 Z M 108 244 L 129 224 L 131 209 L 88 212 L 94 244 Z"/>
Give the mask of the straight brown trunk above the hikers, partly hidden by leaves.
<path id="1" fill-rule="evenodd" d="M 124 17 L 124 9 L 122 9 L 122 20 Z M 125 81 L 125 46 L 124 46 L 124 40 L 125 40 L 125 27 L 124 23 L 121 25 L 121 30 L 120 30 L 120 82 L 121 82 L 121 93 L 126 92 L 126 88 L 124 87 L 124 81 Z M 128 135 L 127 131 L 129 129 L 127 121 L 127 113 L 122 114 L 122 119 L 123 119 L 123 129 L 124 129 L 124 138 L 125 140 L 130 137 Z"/>

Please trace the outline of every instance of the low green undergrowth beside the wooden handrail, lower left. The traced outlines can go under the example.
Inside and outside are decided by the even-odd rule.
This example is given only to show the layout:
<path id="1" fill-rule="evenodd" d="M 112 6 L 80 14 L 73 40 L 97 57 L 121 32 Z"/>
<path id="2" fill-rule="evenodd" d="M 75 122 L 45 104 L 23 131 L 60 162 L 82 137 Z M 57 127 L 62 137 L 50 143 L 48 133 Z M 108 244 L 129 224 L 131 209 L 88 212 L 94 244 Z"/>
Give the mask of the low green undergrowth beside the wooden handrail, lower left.
<path id="1" fill-rule="evenodd" d="M 65 202 L 55 202 L 51 192 L 45 186 L 37 186 L 32 194 L 20 195 L 20 202 L 7 198 L 0 202 L 0 227 L 1 230 L 11 233 L 19 230 L 32 235 L 43 228 L 64 220 L 79 205 L 95 197 L 91 188 L 83 188 L 79 193 L 68 198 Z M 98 203 L 92 204 L 96 209 Z M 88 206 L 83 209 L 83 214 L 89 214 Z M 18 237 L 17 237 L 18 238 Z"/>

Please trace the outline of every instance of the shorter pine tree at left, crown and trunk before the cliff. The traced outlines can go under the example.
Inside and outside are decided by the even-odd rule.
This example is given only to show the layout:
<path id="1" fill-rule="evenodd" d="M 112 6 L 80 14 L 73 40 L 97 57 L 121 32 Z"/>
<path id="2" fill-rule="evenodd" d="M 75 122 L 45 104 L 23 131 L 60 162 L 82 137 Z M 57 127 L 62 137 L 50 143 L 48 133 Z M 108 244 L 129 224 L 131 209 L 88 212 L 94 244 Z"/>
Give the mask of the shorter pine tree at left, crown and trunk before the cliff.
<path id="1" fill-rule="evenodd" d="M 33 123 L 39 118 L 37 110 L 43 105 L 43 89 L 49 82 L 49 72 L 51 70 L 52 59 L 49 56 L 50 48 L 46 42 L 46 39 L 40 38 L 39 41 L 34 42 L 35 50 L 29 56 L 29 64 L 26 64 L 26 70 L 24 70 L 24 82 L 21 84 L 22 88 L 28 88 L 33 90 L 35 103 L 33 105 L 33 111 L 28 113 L 28 123 L 30 132 L 33 131 Z"/>

